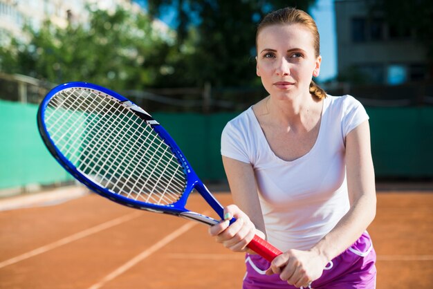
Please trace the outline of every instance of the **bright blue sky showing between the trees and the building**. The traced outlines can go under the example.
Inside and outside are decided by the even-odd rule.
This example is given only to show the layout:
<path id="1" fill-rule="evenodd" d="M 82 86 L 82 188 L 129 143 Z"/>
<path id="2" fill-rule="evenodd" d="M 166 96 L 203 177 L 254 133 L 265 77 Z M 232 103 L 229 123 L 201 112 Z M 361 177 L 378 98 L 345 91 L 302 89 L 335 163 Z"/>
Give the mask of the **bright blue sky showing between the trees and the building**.
<path id="1" fill-rule="evenodd" d="M 140 5 L 146 7 L 147 0 L 135 0 Z M 313 17 L 320 33 L 320 54 L 322 64 L 320 67 L 319 81 L 329 80 L 337 75 L 337 48 L 335 38 L 335 12 L 333 0 L 316 0 L 315 5 L 310 8 L 308 13 Z M 176 12 L 167 10 L 162 17 L 162 21 L 170 24 Z"/>

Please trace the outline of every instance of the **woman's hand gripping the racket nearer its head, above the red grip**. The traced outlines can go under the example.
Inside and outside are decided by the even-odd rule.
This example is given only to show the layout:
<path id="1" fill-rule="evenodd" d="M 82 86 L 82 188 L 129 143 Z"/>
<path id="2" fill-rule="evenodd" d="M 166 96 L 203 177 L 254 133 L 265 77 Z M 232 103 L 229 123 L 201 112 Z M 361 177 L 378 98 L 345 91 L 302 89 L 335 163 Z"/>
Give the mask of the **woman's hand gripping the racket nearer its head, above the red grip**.
<path id="1" fill-rule="evenodd" d="M 236 218 L 236 221 L 230 225 L 230 220 L 233 217 Z M 237 205 L 225 207 L 224 221 L 209 228 L 209 234 L 214 236 L 215 241 L 222 243 L 225 248 L 233 252 L 249 252 L 252 254 L 254 252 L 248 250 L 247 245 L 258 232 L 250 218 Z M 259 236 L 264 237 L 264 234 L 260 233 Z"/>

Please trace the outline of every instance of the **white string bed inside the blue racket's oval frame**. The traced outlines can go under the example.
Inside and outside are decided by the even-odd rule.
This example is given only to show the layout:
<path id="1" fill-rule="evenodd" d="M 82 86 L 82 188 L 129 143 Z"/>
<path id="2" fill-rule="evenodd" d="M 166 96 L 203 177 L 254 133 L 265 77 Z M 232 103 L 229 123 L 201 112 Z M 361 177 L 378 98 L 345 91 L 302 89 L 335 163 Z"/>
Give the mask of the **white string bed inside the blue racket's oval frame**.
<path id="1" fill-rule="evenodd" d="M 83 88 L 62 91 L 45 122 L 59 151 L 102 187 L 158 205 L 183 194 L 185 172 L 169 146 L 117 100 Z"/>

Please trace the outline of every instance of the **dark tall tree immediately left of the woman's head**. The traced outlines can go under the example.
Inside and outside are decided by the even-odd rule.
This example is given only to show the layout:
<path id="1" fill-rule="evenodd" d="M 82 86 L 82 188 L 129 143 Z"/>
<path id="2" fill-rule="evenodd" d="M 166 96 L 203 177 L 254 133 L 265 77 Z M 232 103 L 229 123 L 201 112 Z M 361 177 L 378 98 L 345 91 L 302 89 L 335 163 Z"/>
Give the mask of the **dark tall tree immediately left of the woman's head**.
<path id="1" fill-rule="evenodd" d="M 308 10 L 314 0 L 154 0 L 149 13 L 159 17 L 176 8 L 177 42 L 167 61 L 173 73 L 165 83 L 174 86 L 255 86 L 255 31 L 259 21 L 277 8 Z"/>

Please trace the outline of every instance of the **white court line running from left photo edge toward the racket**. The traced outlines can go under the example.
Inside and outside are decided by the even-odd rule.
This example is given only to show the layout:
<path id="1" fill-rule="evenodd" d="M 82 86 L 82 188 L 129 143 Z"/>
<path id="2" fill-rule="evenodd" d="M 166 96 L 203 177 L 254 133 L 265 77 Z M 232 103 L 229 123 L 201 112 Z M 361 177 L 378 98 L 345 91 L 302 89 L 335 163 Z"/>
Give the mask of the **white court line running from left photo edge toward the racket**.
<path id="1" fill-rule="evenodd" d="M 55 241 L 53 243 L 50 243 L 48 245 L 44 245 L 44 246 L 39 247 L 39 248 L 37 248 L 35 250 L 31 250 L 30 252 L 26 252 L 24 254 L 21 254 L 21 255 L 19 255 L 17 257 L 12 258 L 12 259 L 8 259 L 6 261 L 3 261 L 3 262 L 0 263 L 0 268 L 3 268 L 5 266 L 13 264 L 13 263 L 17 263 L 19 261 L 23 261 L 23 260 L 28 259 L 30 257 L 34 257 L 36 255 L 42 254 L 44 252 L 47 252 L 49 250 L 53 250 L 53 249 L 55 249 L 57 247 L 60 247 L 62 245 L 66 245 L 67 243 L 71 243 L 73 241 L 77 241 L 78 239 L 82 239 L 82 238 L 84 238 L 86 236 L 89 236 L 91 234 L 95 234 L 95 233 L 98 233 L 98 232 L 100 232 L 102 230 L 106 230 L 109 227 L 113 227 L 113 226 L 119 225 L 121 223 L 125 223 L 127 221 L 132 220 L 133 218 L 137 218 L 141 214 L 142 214 L 142 212 L 133 212 L 131 214 L 127 214 L 125 216 L 120 216 L 119 218 L 115 218 L 115 219 L 113 219 L 111 221 L 102 223 L 100 225 L 96 225 L 95 227 L 91 227 L 89 229 L 86 229 L 84 231 L 78 232 L 78 233 L 73 234 L 71 236 L 67 236 L 67 237 L 65 237 L 63 239 L 60 239 L 60 240 Z"/>

